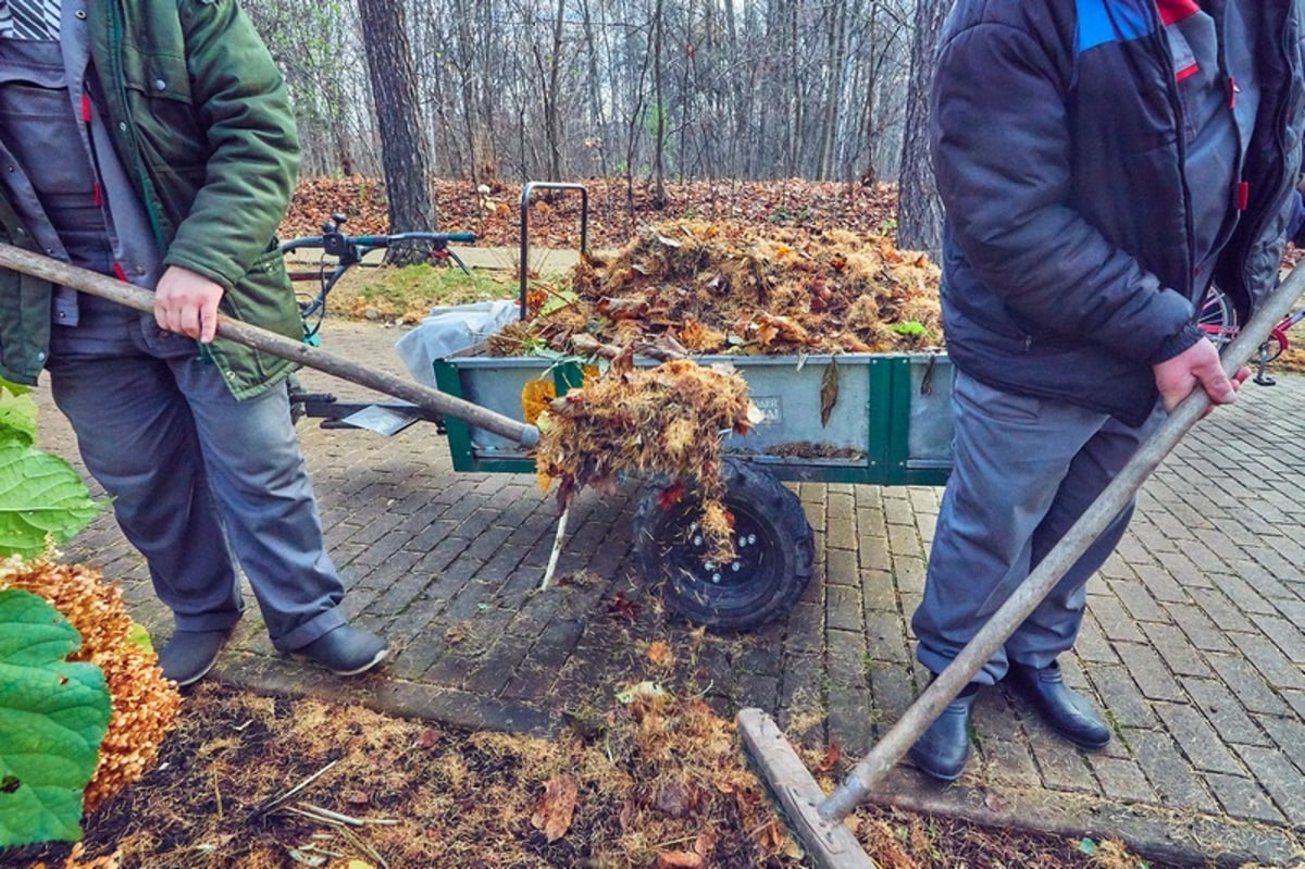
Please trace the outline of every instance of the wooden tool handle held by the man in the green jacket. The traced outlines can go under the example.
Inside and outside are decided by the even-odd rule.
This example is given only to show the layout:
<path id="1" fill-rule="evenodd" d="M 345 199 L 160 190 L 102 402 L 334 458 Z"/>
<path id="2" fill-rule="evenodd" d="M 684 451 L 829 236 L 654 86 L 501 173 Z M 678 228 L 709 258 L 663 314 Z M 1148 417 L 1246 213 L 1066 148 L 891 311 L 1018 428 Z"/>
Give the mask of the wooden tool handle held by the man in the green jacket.
<path id="1" fill-rule="evenodd" d="M 0 243 L 0 266 L 72 287 L 81 292 L 89 292 L 93 296 L 108 299 L 128 308 L 144 312 L 154 311 L 154 294 L 147 290 L 141 290 L 129 283 L 115 281 L 114 278 L 39 253 L 16 248 L 12 244 Z M 359 365 L 343 356 L 318 347 L 311 347 L 301 341 L 286 338 L 260 326 L 219 314 L 218 335 L 271 354 L 273 356 L 281 356 L 282 359 L 290 359 L 301 365 L 324 371 L 342 380 L 369 386 L 386 395 L 411 402 L 423 410 L 461 419 L 523 446 L 530 448 L 539 444 L 539 429 L 534 425 L 527 425 L 510 416 L 504 416 L 479 404 L 472 404 L 468 401 L 448 395 L 424 384 Z"/>

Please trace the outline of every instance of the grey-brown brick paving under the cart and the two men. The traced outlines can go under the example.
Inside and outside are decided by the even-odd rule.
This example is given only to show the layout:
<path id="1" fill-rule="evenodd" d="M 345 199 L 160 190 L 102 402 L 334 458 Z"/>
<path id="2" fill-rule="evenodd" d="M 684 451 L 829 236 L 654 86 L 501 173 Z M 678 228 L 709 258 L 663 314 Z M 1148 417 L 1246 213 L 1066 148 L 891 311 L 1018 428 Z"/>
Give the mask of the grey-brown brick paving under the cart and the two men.
<path id="1" fill-rule="evenodd" d="M 398 330 L 333 322 L 330 350 L 406 373 Z M 317 372 L 311 388 L 365 390 Z M 44 390 L 42 444 L 73 458 Z M 1098 754 L 1058 740 L 1004 690 L 983 694 L 976 753 L 953 787 L 898 769 L 872 799 L 1070 835 L 1121 836 L 1152 865 L 1293 865 L 1305 839 L 1305 377 L 1248 385 L 1152 476 L 1122 545 L 1090 587 L 1067 678 L 1109 710 Z M 532 476 L 458 474 L 433 425 L 394 437 L 300 423 L 346 608 L 382 632 L 381 672 L 338 680 L 277 656 L 247 612 L 214 677 L 472 728 L 551 733 L 658 677 L 731 715 L 760 706 L 793 741 L 867 752 L 923 686 L 908 616 L 941 489 L 796 484 L 817 570 L 779 624 L 703 635 L 668 617 L 630 555 L 637 492 L 585 493 L 560 582 L 538 590 L 556 508 Z M 158 638 L 171 622 L 141 558 L 102 517 L 68 557 L 104 566 Z M 652 673 L 647 646 L 676 651 Z"/>

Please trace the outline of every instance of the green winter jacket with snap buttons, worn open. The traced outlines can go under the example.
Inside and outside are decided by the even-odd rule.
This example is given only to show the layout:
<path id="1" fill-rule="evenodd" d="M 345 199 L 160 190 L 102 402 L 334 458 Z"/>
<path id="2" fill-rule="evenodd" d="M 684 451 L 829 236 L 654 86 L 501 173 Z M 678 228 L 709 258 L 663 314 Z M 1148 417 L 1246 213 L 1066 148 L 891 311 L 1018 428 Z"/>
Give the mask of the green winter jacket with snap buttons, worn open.
<path id="1" fill-rule="evenodd" d="M 89 0 L 91 60 L 115 146 L 145 202 L 163 261 L 224 292 L 224 314 L 291 338 L 299 309 L 277 249 L 299 140 L 286 84 L 235 0 Z M 0 191 L 0 240 L 30 232 Z M 0 376 L 34 384 L 50 347 L 52 287 L 0 270 Z M 294 364 L 217 339 L 238 398 Z"/>

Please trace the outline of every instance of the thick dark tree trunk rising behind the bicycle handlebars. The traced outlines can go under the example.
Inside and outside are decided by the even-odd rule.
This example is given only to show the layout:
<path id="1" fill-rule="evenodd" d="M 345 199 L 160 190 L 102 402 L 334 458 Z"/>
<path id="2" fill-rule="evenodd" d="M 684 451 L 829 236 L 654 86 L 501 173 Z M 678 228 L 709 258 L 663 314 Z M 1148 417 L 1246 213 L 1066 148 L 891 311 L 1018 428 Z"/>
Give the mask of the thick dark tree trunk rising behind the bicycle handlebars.
<path id="1" fill-rule="evenodd" d="M 418 119 L 416 72 L 401 0 L 358 0 L 367 69 L 376 98 L 381 163 L 392 232 L 435 227 L 431 155 Z M 415 262 L 424 254 L 390 248 L 388 261 Z"/>

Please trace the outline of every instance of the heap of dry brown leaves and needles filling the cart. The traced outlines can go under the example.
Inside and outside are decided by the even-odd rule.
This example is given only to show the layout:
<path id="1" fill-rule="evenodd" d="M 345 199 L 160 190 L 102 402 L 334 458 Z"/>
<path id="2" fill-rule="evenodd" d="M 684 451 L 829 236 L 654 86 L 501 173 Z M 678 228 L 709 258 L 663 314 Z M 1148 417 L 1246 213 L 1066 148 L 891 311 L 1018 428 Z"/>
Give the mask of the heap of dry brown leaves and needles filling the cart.
<path id="1" fill-rule="evenodd" d="M 938 269 L 886 237 L 673 221 L 645 227 L 611 262 L 536 284 L 530 320 L 491 341 L 497 355 L 549 347 L 658 346 L 689 354 L 897 352 L 942 342 Z M 609 351 L 611 352 L 611 351 Z"/>

